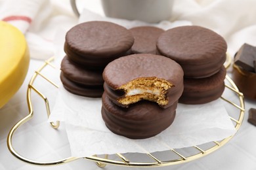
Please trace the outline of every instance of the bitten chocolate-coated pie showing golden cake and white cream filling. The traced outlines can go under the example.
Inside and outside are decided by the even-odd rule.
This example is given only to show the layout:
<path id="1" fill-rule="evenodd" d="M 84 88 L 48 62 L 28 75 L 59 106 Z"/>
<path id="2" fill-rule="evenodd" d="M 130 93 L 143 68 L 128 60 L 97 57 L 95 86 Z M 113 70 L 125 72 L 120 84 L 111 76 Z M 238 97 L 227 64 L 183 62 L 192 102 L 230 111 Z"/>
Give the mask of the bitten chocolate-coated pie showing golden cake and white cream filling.
<path id="1" fill-rule="evenodd" d="M 134 102 L 132 100 L 135 97 L 140 98 L 141 93 L 143 93 L 149 97 L 155 94 L 163 94 L 161 97 L 167 103 L 160 104 L 158 101 L 156 102 L 161 107 L 167 108 L 181 97 L 184 87 L 181 66 L 172 59 L 155 54 L 133 54 L 115 59 L 105 67 L 103 79 L 105 81 L 104 90 L 108 97 L 121 107 L 127 107 L 131 103 L 136 103 L 137 101 Z M 151 83 L 151 80 L 153 84 L 147 84 L 148 87 L 144 87 L 146 83 Z M 165 86 L 165 83 L 173 84 L 173 86 L 161 91 L 160 88 Z M 135 89 L 132 89 L 130 85 L 135 87 Z M 152 88 L 155 85 L 156 87 Z M 126 87 L 126 89 L 121 87 Z M 120 93 L 120 91 L 126 92 L 126 94 Z M 120 102 L 123 101 L 122 99 L 131 99 L 132 102 L 122 103 Z M 152 101 L 151 99 L 148 100 Z"/>

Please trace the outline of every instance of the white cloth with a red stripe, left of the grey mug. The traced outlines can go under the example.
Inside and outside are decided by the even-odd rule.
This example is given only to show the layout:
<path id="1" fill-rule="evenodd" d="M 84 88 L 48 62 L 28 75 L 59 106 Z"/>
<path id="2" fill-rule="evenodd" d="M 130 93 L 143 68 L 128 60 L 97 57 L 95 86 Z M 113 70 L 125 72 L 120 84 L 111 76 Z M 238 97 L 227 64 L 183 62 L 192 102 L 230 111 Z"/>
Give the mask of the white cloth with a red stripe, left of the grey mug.
<path id="1" fill-rule="evenodd" d="M 0 20 L 9 22 L 26 35 L 30 57 L 34 59 L 56 55 L 58 45 L 62 46 L 56 36 L 64 35 L 77 24 L 77 17 L 67 3 L 49 0 L 1 1 Z"/>

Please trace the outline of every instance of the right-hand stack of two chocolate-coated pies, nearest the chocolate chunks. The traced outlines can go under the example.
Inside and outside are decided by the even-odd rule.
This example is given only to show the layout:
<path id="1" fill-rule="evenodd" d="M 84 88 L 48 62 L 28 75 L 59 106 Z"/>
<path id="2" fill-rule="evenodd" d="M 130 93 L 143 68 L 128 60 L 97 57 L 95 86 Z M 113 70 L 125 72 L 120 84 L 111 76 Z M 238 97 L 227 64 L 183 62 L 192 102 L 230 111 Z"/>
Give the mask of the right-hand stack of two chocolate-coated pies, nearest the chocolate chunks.
<path id="1" fill-rule="evenodd" d="M 179 63 L 184 71 L 184 91 L 179 103 L 203 104 L 224 91 L 227 44 L 221 35 L 200 26 L 182 26 L 162 33 L 158 52 Z"/>

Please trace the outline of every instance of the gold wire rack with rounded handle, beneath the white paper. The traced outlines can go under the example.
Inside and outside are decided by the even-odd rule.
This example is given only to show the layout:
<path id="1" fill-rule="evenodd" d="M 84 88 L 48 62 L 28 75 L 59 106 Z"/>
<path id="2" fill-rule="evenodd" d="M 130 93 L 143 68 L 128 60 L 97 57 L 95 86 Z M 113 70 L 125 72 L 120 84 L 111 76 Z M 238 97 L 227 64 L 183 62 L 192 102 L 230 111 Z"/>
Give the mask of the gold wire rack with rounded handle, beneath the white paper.
<path id="1" fill-rule="evenodd" d="M 35 161 L 35 160 L 30 160 L 28 158 L 24 158 L 23 156 L 18 154 L 18 152 L 16 152 L 16 150 L 14 150 L 14 148 L 12 146 L 12 137 L 13 137 L 15 131 L 18 129 L 18 127 L 22 126 L 22 124 L 28 122 L 33 117 L 33 107 L 32 107 L 32 99 L 31 99 L 31 91 L 32 90 L 34 90 L 38 95 L 40 95 L 43 98 L 43 100 L 45 101 L 45 106 L 47 107 L 47 115 L 49 116 L 51 114 L 50 109 L 49 109 L 49 101 L 47 100 L 47 97 L 45 97 L 45 95 L 43 95 L 43 93 L 39 92 L 39 90 L 37 90 L 33 86 L 33 82 L 38 75 L 41 75 L 40 72 L 43 68 L 45 68 L 47 65 L 51 65 L 51 61 L 53 61 L 53 59 L 54 58 L 50 58 L 47 61 L 45 61 L 45 63 L 37 71 L 35 71 L 35 74 L 32 76 L 29 86 L 28 86 L 28 90 L 27 90 L 27 103 L 28 103 L 29 114 L 25 118 L 23 118 L 22 120 L 17 122 L 12 127 L 12 129 L 9 132 L 9 135 L 7 137 L 7 146 L 9 148 L 11 154 L 14 155 L 16 158 L 18 158 L 19 160 L 24 161 L 26 163 L 33 164 L 33 165 L 45 165 L 45 166 L 46 165 L 60 165 L 60 164 L 69 163 L 70 161 L 75 161 L 77 159 L 80 159 L 77 157 L 68 157 L 68 158 L 64 158 L 62 160 L 56 160 L 56 161 Z M 228 63 L 228 65 L 230 65 L 229 60 L 226 63 Z M 44 78 L 47 81 L 51 82 L 51 80 L 49 80 L 47 77 L 44 77 Z M 240 110 L 240 115 L 239 115 L 238 119 L 232 118 L 230 116 L 230 119 L 236 123 L 235 128 L 236 128 L 236 130 L 238 130 L 240 128 L 243 118 L 244 118 L 244 110 L 245 110 L 244 109 L 245 108 L 244 95 L 243 95 L 243 93 L 239 92 L 238 88 L 236 87 L 236 84 L 234 84 L 234 82 L 231 80 L 231 78 L 228 75 L 226 75 L 226 80 L 230 83 L 230 86 L 227 84 L 225 85 L 226 88 L 228 88 L 229 90 L 232 90 L 232 92 L 237 94 L 238 99 L 239 99 L 239 105 L 236 103 L 233 103 L 232 101 L 229 101 L 228 99 L 225 99 L 224 97 L 221 97 L 221 99 L 223 99 L 224 101 L 227 101 L 228 103 L 232 104 L 234 107 L 236 107 L 237 109 Z M 57 85 L 54 84 L 54 82 L 51 82 L 51 84 L 53 84 L 55 87 L 57 87 Z M 56 123 L 51 122 L 51 125 L 53 126 L 53 128 L 58 128 L 59 122 L 56 122 Z M 233 136 L 227 137 L 226 139 L 223 139 L 222 141 L 213 141 L 212 143 L 214 144 L 214 146 L 211 146 L 204 150 L 202 148 L 200 148 L 200 146 L 192 146 L 193 148 L 198 150 L 199 153 L 190 155 L 190 156 L 183 156 L 177 150 L 171 149 L 171 150 L 169 150 L 170 152 L 173 152 L 173 153 L 177 154 L 177 156 L 179 156 L 179 158 L 177 158 L 175 160 L 161 161 L 159 158 L 156 158 L 156 156 L 154 156 L 153 154 L 150 154 L 150 153 L 147 154 L 148 157 L 152 159 L 152 161 L 149 161 L 149 162 L 129 161 L 129 159 L 125 158 L 125 156 L 123 156 L 122 154 L 116 154 L 116 156 L 118 158 L 120 158 L 120 160 L 110 160 L 110 159 L 108 159 L 108 155 L 105 155 L 105 158 L 99 158 L 95 155 L 95 156 L 84 157 L 83 159 L 95 161 L 99 167 L 105 167 L 107 164 L 129 166 L 129 167 L 159 167 L 159 166 L 175 165 L 175 164 L 179 164 L 179 163 L 196 160 L 198 158 L 202 158 L 203 156 L 206 156 L 206 155 L 214 152 L 215 150 L 219 149 L 224 144 L 228 143 L 228 141 L 230 141 L 230 139 L 232 137 Z"/>

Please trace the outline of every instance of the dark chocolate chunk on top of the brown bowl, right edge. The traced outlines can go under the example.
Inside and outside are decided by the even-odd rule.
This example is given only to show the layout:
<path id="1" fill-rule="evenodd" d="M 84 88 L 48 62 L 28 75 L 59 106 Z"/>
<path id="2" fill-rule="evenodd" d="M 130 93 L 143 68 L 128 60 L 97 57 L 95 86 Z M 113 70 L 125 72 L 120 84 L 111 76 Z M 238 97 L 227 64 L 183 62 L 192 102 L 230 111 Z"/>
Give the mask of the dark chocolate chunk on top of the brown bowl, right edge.
<path id="1" fill-rule="evenodd" d="M 246 71 L 255 73 L 253 61 L 256 60 L 256 46 L 244 44 L 234 56 L 234 63 Z"/>

